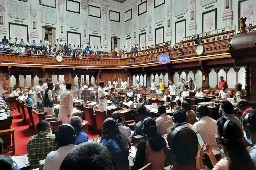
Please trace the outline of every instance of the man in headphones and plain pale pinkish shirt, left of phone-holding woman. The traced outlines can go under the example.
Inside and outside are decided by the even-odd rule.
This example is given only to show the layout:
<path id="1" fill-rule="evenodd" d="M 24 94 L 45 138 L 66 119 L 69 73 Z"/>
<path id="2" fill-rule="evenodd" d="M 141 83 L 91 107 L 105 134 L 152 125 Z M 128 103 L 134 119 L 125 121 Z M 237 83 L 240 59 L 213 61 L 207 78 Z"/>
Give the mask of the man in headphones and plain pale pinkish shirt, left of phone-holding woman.
<path id="1" fill-rule="evenodd" d="M 208 115 L 208 107 L 206 105 L 198 105 L 196 108 L 196 116 L 199 118 L 199 121 L 193 126 L 197 129 L 203 141 L 205 143 L 209 143 L 212 149 L 218 151 L 218 147 L 214 139 L 217 129 L 217 121 L 210 118 Z"/>

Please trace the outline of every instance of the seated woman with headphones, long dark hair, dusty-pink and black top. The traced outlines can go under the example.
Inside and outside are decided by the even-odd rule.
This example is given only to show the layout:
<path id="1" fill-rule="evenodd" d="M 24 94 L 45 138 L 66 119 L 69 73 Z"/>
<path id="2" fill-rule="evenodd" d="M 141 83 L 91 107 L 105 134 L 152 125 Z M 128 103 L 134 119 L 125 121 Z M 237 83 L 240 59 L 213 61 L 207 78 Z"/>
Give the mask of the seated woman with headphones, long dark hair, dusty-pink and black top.
<path id="1" fill-rule="evenodd" d="M 144 120 L 143 133 L 145 139 L 140 140 L 137 146 L 135 168 L 140 169 L 145 164 L 151 163 L 152 170 L 164 169 L 166 141 L 158 132 L 155 119 L 146 118 Z"/>

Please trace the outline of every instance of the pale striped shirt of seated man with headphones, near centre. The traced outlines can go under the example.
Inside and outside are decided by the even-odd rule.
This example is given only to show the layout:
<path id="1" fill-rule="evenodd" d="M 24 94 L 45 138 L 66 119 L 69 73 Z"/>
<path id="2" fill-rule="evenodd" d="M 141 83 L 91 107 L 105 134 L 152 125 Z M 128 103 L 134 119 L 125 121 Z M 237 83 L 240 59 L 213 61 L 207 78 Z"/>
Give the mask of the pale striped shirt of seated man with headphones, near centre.
<path id="1" fill-rule="evenodd" d="M 167 134 L 167 129 L 173 125 L 172 117 L 169 115 L 166 115 L 165 113 L 160 115 L 156 119 L 156 126 L 159 129 L 160 132 L 164 134 Z"/>

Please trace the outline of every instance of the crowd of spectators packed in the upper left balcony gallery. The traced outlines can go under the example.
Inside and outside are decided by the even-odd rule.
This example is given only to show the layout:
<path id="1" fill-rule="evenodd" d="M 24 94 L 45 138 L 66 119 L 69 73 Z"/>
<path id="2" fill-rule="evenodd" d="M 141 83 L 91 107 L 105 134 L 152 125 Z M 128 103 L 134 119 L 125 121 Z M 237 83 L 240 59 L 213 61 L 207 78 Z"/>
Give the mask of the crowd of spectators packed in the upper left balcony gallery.
<path id="1" fill-rule="evenodd" d="M 23 39 L 18 41 L 15 38 L 15 41 L 6 39 L 2 39 L 0 42 L 0 51 L 6 52 L 14 52 L 14 53 L 28 53 L 28 54 L 39 54 L 39 55 L 62 55 L 62 56 L 70 56 L 70 57 L 80 57 L 85 58 L 87 55 L 106 55 L 108 54 L 107 47 L 91 47 L 89 43 L 84 48 L 83 45 L 81 47 L 79 45 L 67 45 L 67 43 L 63 43 L 62 40 L 55 42 L 55 48 L 51 48 L 49 45 L 49 41 L 44 38 L 44 40 L 40 40 L 40 42 L 35 42 L 33 40 L 32 43 L 28 40 L 24 42 Z"/>

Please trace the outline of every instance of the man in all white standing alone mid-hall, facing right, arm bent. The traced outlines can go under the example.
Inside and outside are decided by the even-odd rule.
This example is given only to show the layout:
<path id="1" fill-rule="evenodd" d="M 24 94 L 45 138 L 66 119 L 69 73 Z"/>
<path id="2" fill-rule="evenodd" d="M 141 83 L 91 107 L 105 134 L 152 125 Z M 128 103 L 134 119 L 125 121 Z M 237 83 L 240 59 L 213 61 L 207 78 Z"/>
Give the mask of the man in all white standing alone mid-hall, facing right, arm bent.
<path id="1" fill-rule="evenodd" d="M 105 92 L 103 89 L 105 87 L 104 81 L 100 82 L 100 87 L 98 88 L 98 95 L 99 95 L 99 105 L 98 105 L 98 110 L 99 111 L 104 111 L 107 109 L 108 106 L 108 93 Z"/>

